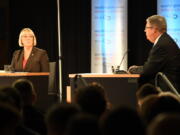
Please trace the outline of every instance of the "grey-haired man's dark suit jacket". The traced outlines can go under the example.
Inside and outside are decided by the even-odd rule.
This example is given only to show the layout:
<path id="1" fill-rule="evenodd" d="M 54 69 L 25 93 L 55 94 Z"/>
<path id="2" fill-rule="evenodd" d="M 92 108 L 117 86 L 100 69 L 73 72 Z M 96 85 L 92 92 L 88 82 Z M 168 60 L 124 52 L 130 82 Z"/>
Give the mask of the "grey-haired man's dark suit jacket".
<path id="1" fill-rule="evenodd" d="M 180 88 L 180 50 L 167 33 L 162 34 L 153 46 L 142 68 L 140 85 L 147 82 L 154 83 L 156 74 L 162 72 L 174 84 L 175 88 Z"/>

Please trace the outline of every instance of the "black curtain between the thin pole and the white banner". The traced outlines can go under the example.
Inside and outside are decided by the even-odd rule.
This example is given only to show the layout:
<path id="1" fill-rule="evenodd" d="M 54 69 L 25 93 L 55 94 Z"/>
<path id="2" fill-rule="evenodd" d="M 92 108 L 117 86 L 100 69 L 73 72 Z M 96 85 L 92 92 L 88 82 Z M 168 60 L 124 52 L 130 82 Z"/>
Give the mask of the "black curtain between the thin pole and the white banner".
<path id="1" fill-rule="evenodd" d="M 91 1 L 60 0 L 63 92 L 68 74 L 89 73 L 91 55 Z"/>

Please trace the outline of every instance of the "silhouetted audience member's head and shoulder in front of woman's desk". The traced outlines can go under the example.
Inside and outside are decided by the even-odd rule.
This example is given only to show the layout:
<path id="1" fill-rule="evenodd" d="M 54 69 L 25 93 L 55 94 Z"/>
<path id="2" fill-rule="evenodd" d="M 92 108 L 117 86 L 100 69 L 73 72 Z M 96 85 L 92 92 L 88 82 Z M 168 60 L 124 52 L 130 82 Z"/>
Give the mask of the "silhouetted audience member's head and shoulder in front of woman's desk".
<path id="1" fill-rule="evenodd" d="M 13 87 L 19 91 L 22 98 L 24 125 L 41 135 L 46 135 L 44 115 L 34 107 L 37 94 L 32 82 L 27 79 L 18 79 L 13 83 Z"/>

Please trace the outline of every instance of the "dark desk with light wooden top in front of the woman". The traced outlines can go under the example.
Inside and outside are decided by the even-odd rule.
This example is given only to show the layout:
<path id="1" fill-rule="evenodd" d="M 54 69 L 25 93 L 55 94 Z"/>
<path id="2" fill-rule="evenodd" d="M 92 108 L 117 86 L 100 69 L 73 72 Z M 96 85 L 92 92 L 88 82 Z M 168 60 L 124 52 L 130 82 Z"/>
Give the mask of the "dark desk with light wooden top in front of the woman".
<path id="1" fill-rule="evenodd" d="M 38 72 L 38 73 L 26 73 L 26 72 L 15 72 L 8 73 L 0 72 L 0 86 L 11 86 L 12 83 L 20 78 L 30 80 L 37 93 L 37 101 L 35 106 L 40 109 L 40 111 L 45 112 L 47 108 L 51 105 L 48 101 L 48 85 L 49 85 L 49 73 L 48 72 Z"/>

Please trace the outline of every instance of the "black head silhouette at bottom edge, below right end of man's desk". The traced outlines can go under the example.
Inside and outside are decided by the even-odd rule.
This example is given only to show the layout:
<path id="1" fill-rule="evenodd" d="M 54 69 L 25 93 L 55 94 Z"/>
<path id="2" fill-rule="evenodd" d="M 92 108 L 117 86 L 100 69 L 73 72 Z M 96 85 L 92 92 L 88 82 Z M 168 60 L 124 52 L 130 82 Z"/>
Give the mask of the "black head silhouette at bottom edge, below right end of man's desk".
<path id="1" fill-rule="evenodd" d="M 127 106 L 118 106 L 101 119 L 103 135 L 144 135 L 145 126 L 138 112 Z"/>

